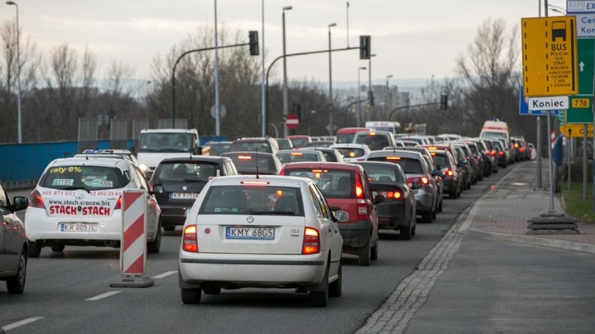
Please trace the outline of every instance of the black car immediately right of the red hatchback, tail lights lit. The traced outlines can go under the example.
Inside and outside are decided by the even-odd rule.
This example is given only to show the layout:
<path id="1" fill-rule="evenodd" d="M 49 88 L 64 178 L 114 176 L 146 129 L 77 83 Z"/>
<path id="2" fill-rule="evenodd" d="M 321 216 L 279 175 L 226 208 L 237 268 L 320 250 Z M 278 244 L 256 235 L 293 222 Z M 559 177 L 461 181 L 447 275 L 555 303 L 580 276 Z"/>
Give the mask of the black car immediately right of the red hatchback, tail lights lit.
<path id="1" fill-rule="evenodd" d="M 353 162 L 364 167 L 374 196 L 383 195 L 378 208 L 378 228 L 398 229 L 400 237 L 416 234 L 416 195 L 409 188 L 403 169 L 392 162 Z"/>

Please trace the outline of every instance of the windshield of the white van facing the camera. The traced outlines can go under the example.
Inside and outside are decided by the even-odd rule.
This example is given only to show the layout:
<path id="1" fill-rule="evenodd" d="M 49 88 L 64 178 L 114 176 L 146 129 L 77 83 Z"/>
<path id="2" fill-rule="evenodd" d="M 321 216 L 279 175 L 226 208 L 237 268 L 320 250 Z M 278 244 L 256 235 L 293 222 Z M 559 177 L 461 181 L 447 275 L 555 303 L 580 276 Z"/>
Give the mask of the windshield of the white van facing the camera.
<path id="1" fill-rule="evenodd" d="M 190 152 L 193 135 L 180 132 L 152 132 L 140 135 L 139 152 Z"/>

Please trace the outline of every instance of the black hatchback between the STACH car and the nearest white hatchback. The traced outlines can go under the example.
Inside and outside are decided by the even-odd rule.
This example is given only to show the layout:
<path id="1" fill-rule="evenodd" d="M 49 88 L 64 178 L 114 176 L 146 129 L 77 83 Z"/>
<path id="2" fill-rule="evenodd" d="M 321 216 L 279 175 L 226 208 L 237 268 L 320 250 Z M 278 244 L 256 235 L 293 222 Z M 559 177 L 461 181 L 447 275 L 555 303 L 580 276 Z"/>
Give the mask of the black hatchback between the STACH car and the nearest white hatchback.
<path id="1" fill-rule="evenodd" d="M 188 158 L 166 158 L 159 162 L 149 184 L 161 208 L 161 225 L 173 231 L 184 225 L 186 209 L 208 181 L 215 176 L 237 175 L 230 158 L 192 155 Z"/>

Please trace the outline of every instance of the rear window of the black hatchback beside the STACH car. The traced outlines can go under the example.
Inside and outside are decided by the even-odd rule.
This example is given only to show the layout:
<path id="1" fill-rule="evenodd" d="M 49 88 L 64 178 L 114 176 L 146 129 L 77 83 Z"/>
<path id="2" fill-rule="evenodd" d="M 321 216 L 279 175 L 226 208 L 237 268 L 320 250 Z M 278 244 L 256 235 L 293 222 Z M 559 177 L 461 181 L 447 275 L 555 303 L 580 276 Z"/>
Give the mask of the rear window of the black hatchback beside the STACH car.
<path id="1" fill-rule="evenodd" d="M 155 169 L 153 181 L 155 183 L 169 181 L 207 182 L 211 177 L 216 176 L 218 170 L 220 170 L 219 165 L 208 162 L 161 162 Z"/>

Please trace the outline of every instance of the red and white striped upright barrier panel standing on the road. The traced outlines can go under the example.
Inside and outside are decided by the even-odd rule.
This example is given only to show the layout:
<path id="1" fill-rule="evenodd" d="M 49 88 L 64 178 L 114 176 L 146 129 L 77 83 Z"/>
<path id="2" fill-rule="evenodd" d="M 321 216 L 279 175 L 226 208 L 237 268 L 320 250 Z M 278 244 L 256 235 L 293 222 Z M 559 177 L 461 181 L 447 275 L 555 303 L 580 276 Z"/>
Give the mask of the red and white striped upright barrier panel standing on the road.
<path id="1" fill-rule="evenodd" d="M 122 282 L 110 287 L 150 287 L 153 280 L 143 277 L 147 262 L 147 218 L 144 190 L 125 190 L 122 195 L 122 241 L 120 271 Z"/>

